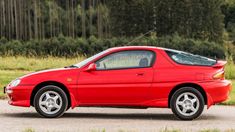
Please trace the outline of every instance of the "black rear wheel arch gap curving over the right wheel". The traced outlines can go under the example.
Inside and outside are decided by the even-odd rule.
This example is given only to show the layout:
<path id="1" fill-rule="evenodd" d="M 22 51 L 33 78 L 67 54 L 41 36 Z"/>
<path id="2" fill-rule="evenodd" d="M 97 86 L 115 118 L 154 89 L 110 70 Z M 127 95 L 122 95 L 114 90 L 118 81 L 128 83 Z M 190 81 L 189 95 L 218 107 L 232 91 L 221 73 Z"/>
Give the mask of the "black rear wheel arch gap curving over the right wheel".
<path id="1" fill-rule="evenodd" d="M 203 89 L 203 87 L 201 87 L 200 85 L 196 84 L 196 83 L 182 83 L 182 84 L 178 84 L 176 85 L 170 92 L 170 94 L 168 95 L 168 108 L 170 108 L 170 100 L 172 98 L 172 95 L 179 90 L 180 88 L 183 87 L 192 87 L 194 89 L 197 89 L 203 96 L 204 99 L 204 103 L 207 105 L 207 94 L 205 92 L 205 90 Z"/>

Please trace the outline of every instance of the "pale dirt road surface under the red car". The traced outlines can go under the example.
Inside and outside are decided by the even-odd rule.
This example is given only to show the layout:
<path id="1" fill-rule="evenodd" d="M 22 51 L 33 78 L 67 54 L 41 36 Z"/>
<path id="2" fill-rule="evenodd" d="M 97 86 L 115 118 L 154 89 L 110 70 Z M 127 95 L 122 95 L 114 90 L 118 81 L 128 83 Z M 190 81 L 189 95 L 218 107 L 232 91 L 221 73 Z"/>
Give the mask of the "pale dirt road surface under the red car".
<path id="1" fill-rule="evenodd" d="M 117 108 L 76 108 L 61 118 L 40 117 L 33 107 L 22 108 L 0 101 L 0 131 L 15 132 L 27 129 L 49 132 L 142 132 L 180 129 L 199 131 L 204 129 L 235 130 L 235 107 L 213 106 L 205 109 L 202 116 L 194 121 L 180 121 L 170 109 L 117 109 Z"/>

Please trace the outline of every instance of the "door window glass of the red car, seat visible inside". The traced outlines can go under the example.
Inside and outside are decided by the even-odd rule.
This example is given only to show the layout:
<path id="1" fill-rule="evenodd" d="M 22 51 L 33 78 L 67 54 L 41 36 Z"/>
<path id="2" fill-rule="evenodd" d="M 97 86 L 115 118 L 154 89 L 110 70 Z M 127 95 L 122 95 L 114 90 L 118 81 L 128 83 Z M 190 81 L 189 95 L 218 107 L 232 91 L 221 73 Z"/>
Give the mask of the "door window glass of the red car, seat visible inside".
<path id="1" fill-rule="evenodd" d="M 96 62 L 97 70 L 151 67 L 155 54 L 148 50 L 128 50 L 112 53 Z"/>

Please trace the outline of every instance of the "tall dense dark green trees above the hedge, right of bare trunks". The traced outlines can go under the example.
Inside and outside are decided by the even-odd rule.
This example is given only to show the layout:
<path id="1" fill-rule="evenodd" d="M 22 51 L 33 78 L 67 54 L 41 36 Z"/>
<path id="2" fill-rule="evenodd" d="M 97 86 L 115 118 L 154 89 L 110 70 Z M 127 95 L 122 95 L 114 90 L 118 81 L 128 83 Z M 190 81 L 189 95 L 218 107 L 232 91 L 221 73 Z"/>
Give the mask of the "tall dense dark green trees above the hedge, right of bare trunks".
<path id="1" fill-rule="evenodd" d="M 222 0 L 110 0 L 114 36 L 136 36 L 155 30 L 159 36 L 180 36 L 221 42 Z M 121 5 L 121 6 L 120 6 Z"/>

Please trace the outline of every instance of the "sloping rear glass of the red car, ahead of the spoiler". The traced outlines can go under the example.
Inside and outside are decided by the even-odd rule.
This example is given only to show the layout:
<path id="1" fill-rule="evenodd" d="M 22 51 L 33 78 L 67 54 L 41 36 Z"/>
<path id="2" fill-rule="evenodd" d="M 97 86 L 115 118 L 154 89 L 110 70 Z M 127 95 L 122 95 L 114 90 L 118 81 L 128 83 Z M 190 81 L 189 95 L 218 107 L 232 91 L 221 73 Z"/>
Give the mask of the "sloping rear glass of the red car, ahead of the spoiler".
<path id="1" fill-rule="evenodd" d="M 194 55 L 177 50 L 165 50 L 169 57 L 176 63 L 185 65 L 199 65 L 199 66 L 212 66 L 216 63 L 216 60 L 203 57 L 200 55 Z"/>

